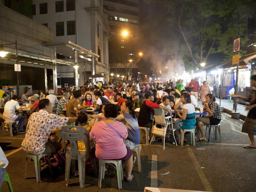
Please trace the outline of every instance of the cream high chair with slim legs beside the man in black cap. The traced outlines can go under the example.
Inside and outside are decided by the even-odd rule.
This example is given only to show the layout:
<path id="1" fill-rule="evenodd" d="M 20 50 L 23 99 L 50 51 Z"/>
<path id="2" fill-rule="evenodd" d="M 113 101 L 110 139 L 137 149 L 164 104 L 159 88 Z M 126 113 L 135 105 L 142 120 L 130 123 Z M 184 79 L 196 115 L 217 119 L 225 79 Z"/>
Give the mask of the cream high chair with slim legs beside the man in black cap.
<path id="1" fill-rule="evenodd" d="M 158 136 L 162 136 L 163 137 L 164 149 L 165 149 L 165 135 L 166 135 L 166 131 L 168 129 L 168 126 L 171 125 L 172 128 L 168 129 L 168 130 L 173 131 L 173 138 L 174 138 L 176 146 L 178 146 L 177 142 L 176 142 L 176 139 L 175 139 L 175 136 L 174 136 L 174 131 L 176 129 L 173 128 L 172 121 L 169 121 L 169 119 L 172 120 L 172 116 L 165 117 L 163 109 L 154 109 L 154 113 L 155 113 L 155 115 L 154 115 L 155 125 L 152 126 L 152 134 L 153 134 L 153 136 L 154 135 L 158 135 Z M 161 125 L 162 128 L 156 127 L 157 124 Z M 168 133 L 168 134 L 171 134 L 171 133 Z M 153 136 L 151 138 L 150 144 L 151 144 L 151 142 L 153 140 Z"/>

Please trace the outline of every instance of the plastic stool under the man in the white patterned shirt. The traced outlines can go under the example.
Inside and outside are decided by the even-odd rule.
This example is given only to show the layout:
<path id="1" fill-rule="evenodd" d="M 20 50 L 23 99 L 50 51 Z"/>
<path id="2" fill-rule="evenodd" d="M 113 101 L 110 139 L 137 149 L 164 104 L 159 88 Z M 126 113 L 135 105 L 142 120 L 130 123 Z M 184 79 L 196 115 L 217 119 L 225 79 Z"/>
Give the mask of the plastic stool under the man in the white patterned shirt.
<path id="1" fill-rule="evenodd" d="M 48 156 L 48 165 L 50 169 L 50 173 L 52 175 L 52 170 L 51 170 L 51 163 L 50 163 L 50 155 L 49 154 L 42 154 L 42 155 L 31 155 L 26 153 L 26 158 L 25 158 L 25 179 L 27 178 L 27 166 L 28 166 L 28 157 L 33 159 L 35 162 L 35 169 L 36 169 L 36 182 L 41 183 L 40 180 L 40 172 L 41 172 L 41 164 L 40 164 L 40 159 L 44 156 Z"/>

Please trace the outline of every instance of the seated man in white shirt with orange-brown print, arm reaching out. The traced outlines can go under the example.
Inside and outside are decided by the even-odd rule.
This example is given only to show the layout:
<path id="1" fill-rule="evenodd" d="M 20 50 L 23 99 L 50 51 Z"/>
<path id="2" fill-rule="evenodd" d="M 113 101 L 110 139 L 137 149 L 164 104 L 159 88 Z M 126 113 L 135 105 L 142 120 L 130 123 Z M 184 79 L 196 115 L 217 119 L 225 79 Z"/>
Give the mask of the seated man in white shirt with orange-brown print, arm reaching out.
<path id="1" fill-rule="evenodd" d="M 32 113 L 28 119 L 27 133 L 22 142 L 22 149 L 33 155 L 56 153 L 61 150 L 61 144 L 48 142 L 52 129 L 73 123 L 77 118 L 52 114 L 52 105 L 49 99 L 40 100 L 38 107 L 40 110 Z"/>

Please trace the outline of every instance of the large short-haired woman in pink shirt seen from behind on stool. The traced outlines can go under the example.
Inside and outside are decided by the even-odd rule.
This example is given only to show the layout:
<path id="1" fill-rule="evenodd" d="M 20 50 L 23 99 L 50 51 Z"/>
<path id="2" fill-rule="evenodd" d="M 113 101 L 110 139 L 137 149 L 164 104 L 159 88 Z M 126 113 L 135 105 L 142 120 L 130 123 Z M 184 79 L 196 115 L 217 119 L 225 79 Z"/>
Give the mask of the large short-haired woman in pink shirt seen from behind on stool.
<path id="1" fill-rule="evenodd" d="M 98 159 L 123 160 L 126 181 L 130 182 L 133 179 L 133 156 L 131 149 L 123 141 L 128 136 L 127 128 L 123 123 L 114 120 L 118 115 L 116 105 L 107 104 L 104 111 L 106 119 L 94 124 L 90 132 L 90 138 L 96 141 L 95 155 Z"/>

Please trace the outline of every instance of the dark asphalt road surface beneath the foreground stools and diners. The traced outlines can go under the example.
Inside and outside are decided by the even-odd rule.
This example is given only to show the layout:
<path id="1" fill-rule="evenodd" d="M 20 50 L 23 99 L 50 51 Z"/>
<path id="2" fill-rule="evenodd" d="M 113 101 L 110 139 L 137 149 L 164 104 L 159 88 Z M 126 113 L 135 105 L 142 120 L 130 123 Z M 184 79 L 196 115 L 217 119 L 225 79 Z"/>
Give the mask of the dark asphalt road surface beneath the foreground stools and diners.
<path id="1" fill-rule="evenodd" d="M 196 142 L 196 148 L 185 144 L 184 148 L 166 142 L 142 145 L 141 167 L 138 174 L 137 162 L 133 168 L 132 182 L 122 182 L 123 191 L 143 191 L 145 186 L 199 191 L 256 191 L 255 158 L 256 149 L 244 149 L 249 138 L 241 133 L 242 122 L 222 113 L 221 143 L 215 140 L 213 131 L 210 142 Z M 78 176 L 71 175 L 70 185 L 65 186 L 65 170 L 53 168 L 54 178 L 49 176 L 49 168 L 42 168 L 41 183 L 36 183 L 35 166 L 28 161 L 28 178 L 25 179 L 25 154 L 21 150 L 23 135 L 3 137 L 0 145 L 9 160 L 6 168 L 14 191 L 118 191 L 115 170 L 108 167 L 108 176 L 98 188 L 98 178 L 86 170 L 86 187 L 80 188 Z M 190 137 L 189 137 L 190 138 Z M 8 191 L 7 183 L 2 191 Z"/>

